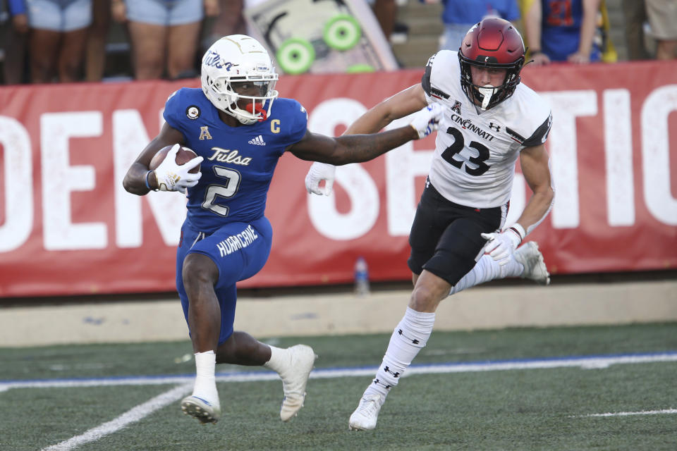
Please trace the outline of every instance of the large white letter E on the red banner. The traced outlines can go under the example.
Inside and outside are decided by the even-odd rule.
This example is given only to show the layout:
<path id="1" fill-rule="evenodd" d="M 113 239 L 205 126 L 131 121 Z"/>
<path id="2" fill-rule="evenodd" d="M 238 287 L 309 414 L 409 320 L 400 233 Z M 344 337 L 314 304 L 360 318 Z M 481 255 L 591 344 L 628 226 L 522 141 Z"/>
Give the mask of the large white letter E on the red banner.
<path id="1" fill-rule="evenodd" d="M 71 137 L 102 135 L 101 111 L 44 113 L 40 116 L 42 158 L 42 225 L 48 251 L 104 249 L 108 245 L 105 223 L 72 223 L 71 192 L 95 186 L 92 166 L 69 164 Z"/>

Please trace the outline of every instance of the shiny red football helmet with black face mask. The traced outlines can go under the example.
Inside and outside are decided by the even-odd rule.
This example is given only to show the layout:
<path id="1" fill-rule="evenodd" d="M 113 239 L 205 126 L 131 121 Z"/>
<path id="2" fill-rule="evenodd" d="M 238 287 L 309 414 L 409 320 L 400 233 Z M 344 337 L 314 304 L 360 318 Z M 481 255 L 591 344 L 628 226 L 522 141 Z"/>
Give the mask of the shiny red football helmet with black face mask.
<path id="1" fill-rule="evenodd" d="M 461 86 L 470 100 L 482 102 L 483 109 L 492 108 L 515 92 L 524 66 L 524 42 L 515 27 L 501 18 L 486 18 L 468 30 L 458 49 L 461 63 Z M 472 83 L 470 66 L 507 69 L 503 85 L 493 89 Z M 484 101 L 489 95 L 488 102 Z"/>

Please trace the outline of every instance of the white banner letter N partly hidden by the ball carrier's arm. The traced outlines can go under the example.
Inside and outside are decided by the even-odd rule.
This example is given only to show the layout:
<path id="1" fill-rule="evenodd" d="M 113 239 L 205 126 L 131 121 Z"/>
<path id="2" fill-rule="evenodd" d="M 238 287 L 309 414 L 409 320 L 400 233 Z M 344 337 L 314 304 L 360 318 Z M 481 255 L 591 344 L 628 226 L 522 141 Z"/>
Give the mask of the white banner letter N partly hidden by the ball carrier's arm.
<path id="1" fill-rule="evenodd" d="M 160 113 L 160 126 L 164 123 Z M 181 224 L 185 218 L 185 196 L 180 193 L 150 192 L 140 197 L 126 192 L 122 180 L 141 150 L 150 142 L 137 110 L 113 113 L 113 154 L 115 165 L 115 226 L 118 247 L 140 247 L 143 244 L 142 198 L 148 201 L 162 241 L 178 245 Z"/>

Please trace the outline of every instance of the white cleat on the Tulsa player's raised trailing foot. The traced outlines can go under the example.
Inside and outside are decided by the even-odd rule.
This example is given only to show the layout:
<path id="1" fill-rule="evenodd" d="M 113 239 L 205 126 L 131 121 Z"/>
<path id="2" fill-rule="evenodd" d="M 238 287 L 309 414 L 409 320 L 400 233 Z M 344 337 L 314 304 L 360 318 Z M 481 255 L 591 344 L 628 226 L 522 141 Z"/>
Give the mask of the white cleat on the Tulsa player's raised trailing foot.
<path id="1" fill-rule="evenodd" d="M 287 350 L 290 354 L 289 368 L 284 371 L 284 376 L 280 374 L 282 389 L 284 390 L 284 398 L 280 407 L 280 419 L 282 421 L 291 420 L 303 407 L 305 385 L 317 358 L 315 351 L 310 346 L 295 345 Z"/>

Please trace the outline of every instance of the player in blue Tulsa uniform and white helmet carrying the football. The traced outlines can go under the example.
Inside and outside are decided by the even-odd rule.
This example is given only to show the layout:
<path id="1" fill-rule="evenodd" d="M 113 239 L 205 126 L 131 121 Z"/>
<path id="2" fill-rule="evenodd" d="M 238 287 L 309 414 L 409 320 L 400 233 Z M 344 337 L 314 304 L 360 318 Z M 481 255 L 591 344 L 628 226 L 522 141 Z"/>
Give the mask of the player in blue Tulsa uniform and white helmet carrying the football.
<path id="1" fill-rule="evenodd" d="M 202 59 L 202 89 L 179 89 L 166 102 L 166 123 L 129 168 L 123 182 L 138 195 L 150 190 L 188 194 L 188 213 L 176 252 L 176 288 L 188 322 L 197 376 L 183 412 L 202 423 L 221 415 L 214 378 L 217 363 L 264 365 L 279 373 L 282 421 L 303 405 L 315 362 L 311 347 L 280 349 L 233 331 L 236 283 L 254 276 L 270 253 L 272 229 L 264 216 L 273 171 L 284 152 L 303 160 L 342 165 L 367 161 L 437 127 L 439 105 L 427 106 L 405 127 L 375 135 L 328 137 L 307 130 L 298 101 L 278 98 L 278 75 L 256 39 L 219 39 Z M 197 157 L 178 165 L 181 146 Z M 153 156 L 172 146 L 157 168 Z M 200 164 L 200 172 L 190 169 Z"/>

